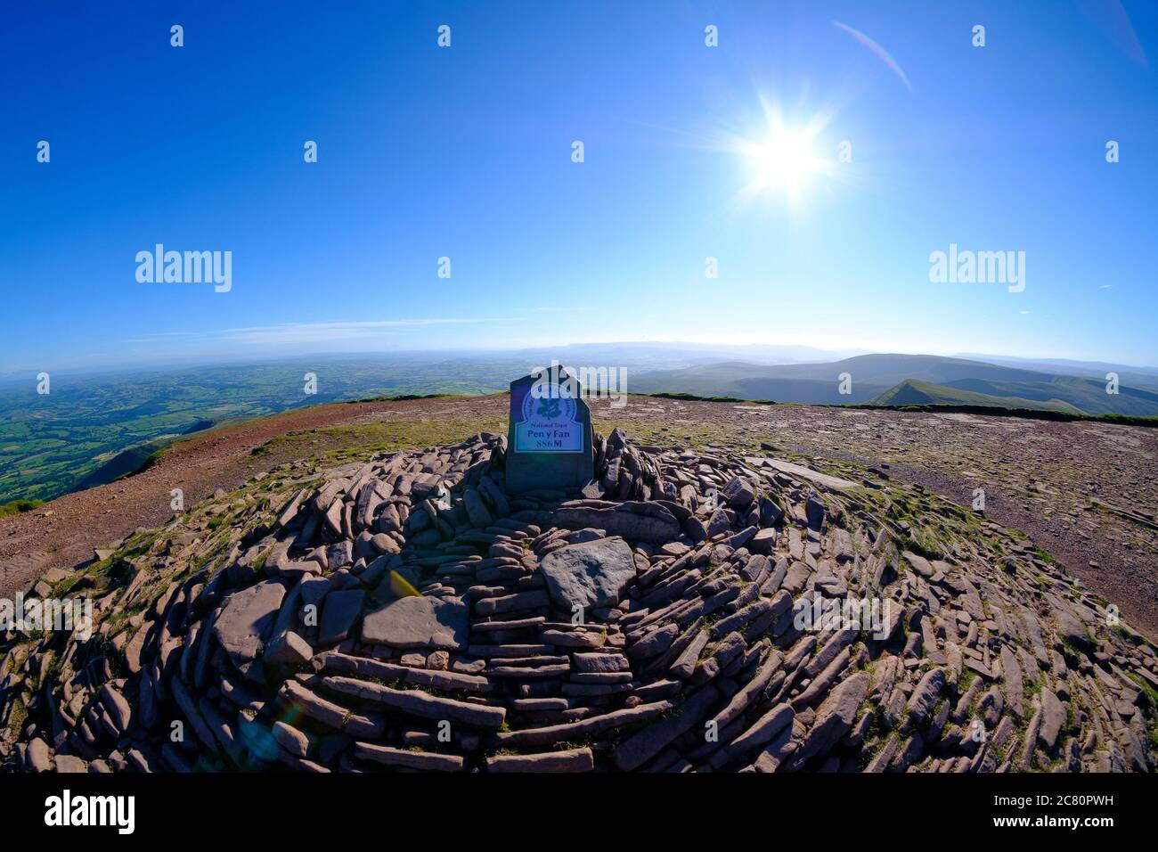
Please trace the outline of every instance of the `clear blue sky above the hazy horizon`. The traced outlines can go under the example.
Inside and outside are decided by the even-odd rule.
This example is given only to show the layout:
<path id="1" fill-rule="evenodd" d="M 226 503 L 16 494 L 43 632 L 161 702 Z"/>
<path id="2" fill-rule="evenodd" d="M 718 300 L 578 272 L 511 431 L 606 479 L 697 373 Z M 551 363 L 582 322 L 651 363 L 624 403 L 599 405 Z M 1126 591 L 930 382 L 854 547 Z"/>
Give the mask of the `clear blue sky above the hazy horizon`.
<path id="1" fill-rule="evenodd" d="M 959 6 L 6 5 L 0 373 L 621 340 L 1158 364 L 1158 7 Z M 793 194 L 742 152 L 769 116 L 808 137 Z M 159 242 L 232 252 L 232 290 L 138 283 Z M 930 282 L 950 243 L 1025 252 L 1024 292 Z"/>

